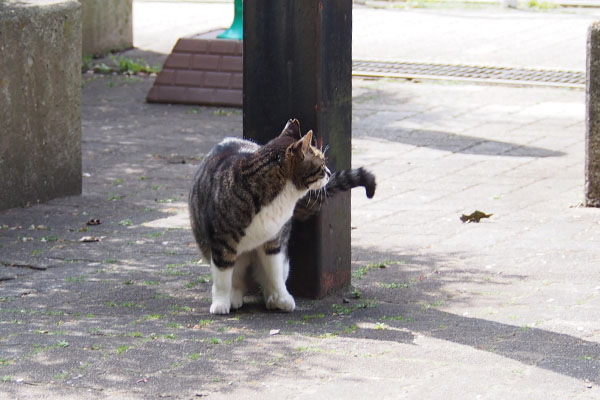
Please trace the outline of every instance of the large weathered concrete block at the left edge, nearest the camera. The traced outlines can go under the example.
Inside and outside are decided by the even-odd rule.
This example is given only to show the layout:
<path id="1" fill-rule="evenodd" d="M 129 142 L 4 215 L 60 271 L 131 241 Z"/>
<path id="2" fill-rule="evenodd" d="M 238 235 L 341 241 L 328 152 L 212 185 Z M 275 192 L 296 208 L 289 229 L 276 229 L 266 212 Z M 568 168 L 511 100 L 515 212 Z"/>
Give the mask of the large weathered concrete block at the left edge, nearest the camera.
<path id="1" fill-rule="evenodd" d="M 0 3 L 0 210 L 81 193 L 81 7 Z"/>

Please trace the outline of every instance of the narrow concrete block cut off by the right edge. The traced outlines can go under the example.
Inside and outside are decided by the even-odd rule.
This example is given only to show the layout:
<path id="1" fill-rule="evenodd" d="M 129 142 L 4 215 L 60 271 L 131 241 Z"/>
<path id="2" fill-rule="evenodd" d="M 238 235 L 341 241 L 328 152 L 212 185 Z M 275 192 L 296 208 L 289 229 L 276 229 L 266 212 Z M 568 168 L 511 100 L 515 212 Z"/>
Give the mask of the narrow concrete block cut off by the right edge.
<path id="1" fill-rule="evenodd" d="M 600 23 L 588 28 L 585 116 L 585 205 L 600 207 Z"/>

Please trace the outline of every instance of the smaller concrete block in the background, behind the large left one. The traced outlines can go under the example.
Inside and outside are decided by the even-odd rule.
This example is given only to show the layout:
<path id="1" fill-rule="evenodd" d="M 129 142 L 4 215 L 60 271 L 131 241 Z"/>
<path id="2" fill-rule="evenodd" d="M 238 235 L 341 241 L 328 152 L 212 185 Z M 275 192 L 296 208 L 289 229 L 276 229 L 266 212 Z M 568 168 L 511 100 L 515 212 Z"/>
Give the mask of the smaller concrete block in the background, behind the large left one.
<path id="1" fill-rule="evenodd" d="M 103 56 L 133 47 L 133 0 L 79 0 L 83 55 Z"/>

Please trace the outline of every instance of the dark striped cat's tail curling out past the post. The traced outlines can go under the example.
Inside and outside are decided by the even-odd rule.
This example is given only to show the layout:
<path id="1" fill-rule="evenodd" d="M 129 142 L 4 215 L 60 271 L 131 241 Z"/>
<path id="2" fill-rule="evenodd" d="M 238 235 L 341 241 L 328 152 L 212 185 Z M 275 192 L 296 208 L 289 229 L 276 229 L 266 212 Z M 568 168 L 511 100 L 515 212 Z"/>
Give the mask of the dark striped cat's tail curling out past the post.
<path id="1" fill-rule="evenodd" d="M 370 199 L 375 195 L 375 175 L 360 167 L 334 172 L 329 182 L 321 190 L 311 190 L 296 204 L 294 219 L 304 221 L 315 215 L 323 203 L 339 192 L 345 192 L 355 187 L 363 186 Z"/>

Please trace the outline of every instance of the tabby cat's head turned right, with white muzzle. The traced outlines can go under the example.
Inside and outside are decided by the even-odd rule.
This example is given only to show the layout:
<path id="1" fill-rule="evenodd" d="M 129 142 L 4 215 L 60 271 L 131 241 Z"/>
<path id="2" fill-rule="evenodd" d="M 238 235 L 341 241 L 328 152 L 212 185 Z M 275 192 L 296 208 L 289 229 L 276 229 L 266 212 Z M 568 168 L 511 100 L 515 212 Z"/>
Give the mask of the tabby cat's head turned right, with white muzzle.
<path id="1" fill-rule="evenodd" d="M 294 185 L 300 190 L 324 187 L 331 172 L 325 165 L 325 155 L 312 145 L 313 132 L 302 136 L 298 120 L 289 120 L 281 135 L 294 138 L 285 151 L 285 163 Z"/>

